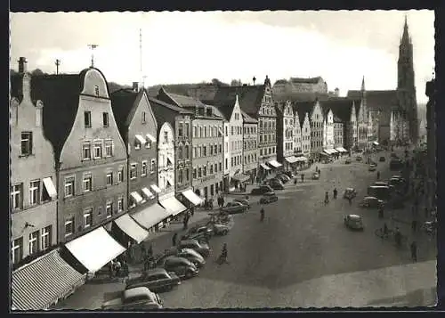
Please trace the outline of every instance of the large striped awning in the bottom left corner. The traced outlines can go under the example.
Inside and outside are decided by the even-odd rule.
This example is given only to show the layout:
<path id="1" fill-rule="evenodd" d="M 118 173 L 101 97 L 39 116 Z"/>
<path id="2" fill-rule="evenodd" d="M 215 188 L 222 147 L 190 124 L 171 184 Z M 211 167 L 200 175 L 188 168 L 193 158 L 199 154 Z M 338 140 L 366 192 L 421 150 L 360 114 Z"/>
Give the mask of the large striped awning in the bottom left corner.
<path id="1" fill-rule="evenodd" d="M 47 309 L 84 281 L 85 276 L 68 265 L 55 249 L 12 273 L 12 307 Z"/>

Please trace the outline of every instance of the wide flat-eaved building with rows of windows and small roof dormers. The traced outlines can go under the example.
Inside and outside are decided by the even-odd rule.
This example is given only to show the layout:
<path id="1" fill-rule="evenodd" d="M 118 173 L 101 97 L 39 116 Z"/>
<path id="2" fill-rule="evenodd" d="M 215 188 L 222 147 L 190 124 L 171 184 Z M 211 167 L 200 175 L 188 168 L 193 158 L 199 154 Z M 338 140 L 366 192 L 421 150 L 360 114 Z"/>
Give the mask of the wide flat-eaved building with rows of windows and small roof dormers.
<path id="1" fill-rule="evenodd" d="M 192 185 L 202 198 L 211 199 L 223 189 L 223 118 L 215 115 L 214 106 L 178 94 L 159 90 L 158 100 L 193 111 Z"/>

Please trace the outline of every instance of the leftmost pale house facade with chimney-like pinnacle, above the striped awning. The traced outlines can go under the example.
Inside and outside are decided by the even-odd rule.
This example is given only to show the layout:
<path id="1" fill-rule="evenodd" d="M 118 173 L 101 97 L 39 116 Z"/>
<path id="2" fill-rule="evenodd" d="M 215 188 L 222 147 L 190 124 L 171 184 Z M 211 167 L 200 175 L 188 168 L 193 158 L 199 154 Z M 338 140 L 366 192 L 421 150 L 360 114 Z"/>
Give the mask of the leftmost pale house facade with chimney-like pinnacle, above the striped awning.
<path id="1" fill-rule="evenodd" d="M 44 102 L 31 97 L 31 76 L 20 58 L 11 78 L 10 217 L 13 268 L 53 249 L 57 184 L 53 145 L 44 135 Z"/>

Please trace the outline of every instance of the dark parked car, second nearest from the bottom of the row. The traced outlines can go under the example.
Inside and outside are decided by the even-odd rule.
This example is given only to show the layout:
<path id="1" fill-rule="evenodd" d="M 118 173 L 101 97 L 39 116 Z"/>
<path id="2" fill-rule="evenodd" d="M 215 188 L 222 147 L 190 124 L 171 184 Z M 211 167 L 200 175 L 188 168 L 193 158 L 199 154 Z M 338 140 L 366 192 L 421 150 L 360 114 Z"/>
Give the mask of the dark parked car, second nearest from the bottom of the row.
<path id="1" fill-rule="evenodd" d="M 167 272 L 164 268 L 154 268 L 142 273 L 138 277 L 128 279 L 125 289 L 147 287 L 151 291 L 171 290 L 181 284 L 181 280 L 174 272 Z"/>

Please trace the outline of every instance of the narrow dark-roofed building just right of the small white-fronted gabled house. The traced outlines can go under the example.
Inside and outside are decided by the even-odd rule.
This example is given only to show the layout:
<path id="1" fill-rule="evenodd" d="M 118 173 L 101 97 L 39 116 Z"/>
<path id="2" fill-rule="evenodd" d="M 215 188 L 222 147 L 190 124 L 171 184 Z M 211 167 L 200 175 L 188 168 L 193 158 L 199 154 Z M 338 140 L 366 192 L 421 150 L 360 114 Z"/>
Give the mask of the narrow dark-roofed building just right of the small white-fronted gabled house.
<path id="1" fill-rule="evenodd" d="M 193 192 L 192 187 L 192 142 L 191 118 L 193 112 L 182 107 L 159 101 L 149 97 L 150 104 L 155 109 L 158 123 L 167 122 L 174 127 L 174 192 L 176 198 L 185 206 L 198 206 L 202 200 Z"/>

